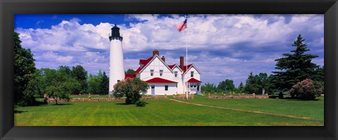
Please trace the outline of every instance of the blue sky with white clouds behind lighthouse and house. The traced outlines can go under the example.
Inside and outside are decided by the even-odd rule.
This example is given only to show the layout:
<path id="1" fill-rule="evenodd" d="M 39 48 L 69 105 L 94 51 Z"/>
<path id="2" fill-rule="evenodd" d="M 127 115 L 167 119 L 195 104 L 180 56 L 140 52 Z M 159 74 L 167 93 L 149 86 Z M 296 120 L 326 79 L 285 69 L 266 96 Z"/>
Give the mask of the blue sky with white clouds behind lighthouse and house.
<path id="1" fill-rule="evenodd" d="M 123 34 L 125 70 L 136 70 L 139 59 L 149 58 L 154 49 L 168 64 L 179 64 L 188 42 L 188 63 L 202 72 L 202 82 L 232 79 L 238 86 L 251 71 L 272 74 L 274 60 L 294 49 L 298 34 L 306 39 L 308 53 L 319 56 L 313 63 L 324 65 L 323 15 L 189 15 L 183 32 L 175 29 L 183 15 L 16 14 L 14 20 L 37 68 L 82 65 L 94 75 L 100 69 L 109 73 L 113 24 Z"/>

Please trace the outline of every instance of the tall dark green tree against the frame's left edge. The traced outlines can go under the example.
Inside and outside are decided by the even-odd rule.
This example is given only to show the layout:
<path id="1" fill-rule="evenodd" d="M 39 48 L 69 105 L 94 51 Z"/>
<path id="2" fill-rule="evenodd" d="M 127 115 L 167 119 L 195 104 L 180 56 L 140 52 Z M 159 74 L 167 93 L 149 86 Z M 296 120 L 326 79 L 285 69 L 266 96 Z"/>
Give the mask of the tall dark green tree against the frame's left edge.
<path id="1" fill-rule="evenodd" d="M 35 72 L 34 61 L 30 49 L 23 49 L 19 34 L 14 32 L 14 103 L 20 106 L 32 105 L 35 102 L 34 94 L 25 92 Z"/>

